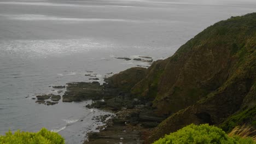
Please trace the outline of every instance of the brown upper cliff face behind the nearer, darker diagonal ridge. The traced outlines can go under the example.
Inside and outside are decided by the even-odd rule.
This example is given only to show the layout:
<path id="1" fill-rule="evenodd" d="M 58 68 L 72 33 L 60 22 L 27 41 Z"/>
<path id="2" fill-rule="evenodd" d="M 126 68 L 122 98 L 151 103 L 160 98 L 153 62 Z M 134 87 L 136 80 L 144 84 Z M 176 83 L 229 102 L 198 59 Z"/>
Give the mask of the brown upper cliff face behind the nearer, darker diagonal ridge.
<path id="1" fill-rule="evenodd" d="M 208 27 L 172 57 L 155 62 L 132 93 L 153 99 L 160 113 L 173 113 L 216 91 L 254 52 L 255 15 L 232 17 Z"/>

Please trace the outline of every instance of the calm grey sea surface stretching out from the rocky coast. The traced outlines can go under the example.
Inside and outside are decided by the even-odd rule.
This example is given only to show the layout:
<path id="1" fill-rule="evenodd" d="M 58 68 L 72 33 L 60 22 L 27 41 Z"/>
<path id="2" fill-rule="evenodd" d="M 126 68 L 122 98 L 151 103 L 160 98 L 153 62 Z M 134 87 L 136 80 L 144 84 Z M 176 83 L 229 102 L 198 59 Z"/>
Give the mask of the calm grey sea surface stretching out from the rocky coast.
<path id="1" fill-rule="evenodd" d="M 67 143 L 82 143 L 103 115 L 82 103 L 39 105 L 49 86 L 89 81 L 147 63 L 115 57 L 171 56 L 213 23 L 256 12 L 241 0 L 0 0 L 0 134 L 10 130 L 58 131 Z M 82 120 L 83 121 L 80 121 Z"/>

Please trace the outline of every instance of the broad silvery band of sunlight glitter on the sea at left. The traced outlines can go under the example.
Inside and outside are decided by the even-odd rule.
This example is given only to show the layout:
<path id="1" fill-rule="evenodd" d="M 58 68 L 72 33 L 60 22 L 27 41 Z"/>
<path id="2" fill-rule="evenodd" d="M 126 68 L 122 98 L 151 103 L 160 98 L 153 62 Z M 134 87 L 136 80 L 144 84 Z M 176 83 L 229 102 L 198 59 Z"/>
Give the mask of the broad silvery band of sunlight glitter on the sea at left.
<path id="1" fill-rule="evenodd" d="M 112 49 L 107 42 L 98 43 L 91 39 L 5 40 L 0 41 L 0 47 L 4 47 L 0 50 L 0 56 L 17 55 L 30 58 Z"/>

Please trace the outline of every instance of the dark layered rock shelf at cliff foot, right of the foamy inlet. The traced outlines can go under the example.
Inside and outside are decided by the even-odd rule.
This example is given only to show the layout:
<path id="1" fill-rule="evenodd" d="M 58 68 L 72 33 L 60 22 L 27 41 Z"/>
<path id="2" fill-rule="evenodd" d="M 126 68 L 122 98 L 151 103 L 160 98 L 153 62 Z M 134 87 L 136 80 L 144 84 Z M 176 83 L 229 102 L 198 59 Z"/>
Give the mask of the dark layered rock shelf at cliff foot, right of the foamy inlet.
<path id="1" fill-rule="evenodd" d="M 108 85 L 103 87 L 103 100 L 94 100 L 86 107 L 112 111 L 115 117 L 99 128 L 99 133 L 88 133 L 88 141 L 84 143 L 144 143 L 153 128 L 166 118 L 155 114 L 150 101 L 139 100 Z"/>

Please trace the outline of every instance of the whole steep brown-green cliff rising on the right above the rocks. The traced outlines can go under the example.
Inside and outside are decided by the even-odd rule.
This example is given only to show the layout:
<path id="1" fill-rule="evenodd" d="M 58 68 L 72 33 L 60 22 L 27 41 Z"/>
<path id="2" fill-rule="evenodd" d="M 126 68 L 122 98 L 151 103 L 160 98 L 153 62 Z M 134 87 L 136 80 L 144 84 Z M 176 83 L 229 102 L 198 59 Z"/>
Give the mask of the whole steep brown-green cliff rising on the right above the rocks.
<path id="1" fill-rule="evenodd" d="M 129 69 L 108 81 L 152 101 L 158 115 L 169 116 L 146 143 L 190 123 L 226 131 L 244 123 L 255 127 L 255 49 L 256 13 L 231 17 L 197 34 L 173 56 L 139 70 L 139 76 Z"/>

